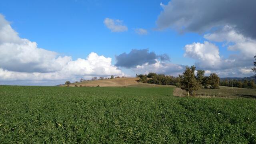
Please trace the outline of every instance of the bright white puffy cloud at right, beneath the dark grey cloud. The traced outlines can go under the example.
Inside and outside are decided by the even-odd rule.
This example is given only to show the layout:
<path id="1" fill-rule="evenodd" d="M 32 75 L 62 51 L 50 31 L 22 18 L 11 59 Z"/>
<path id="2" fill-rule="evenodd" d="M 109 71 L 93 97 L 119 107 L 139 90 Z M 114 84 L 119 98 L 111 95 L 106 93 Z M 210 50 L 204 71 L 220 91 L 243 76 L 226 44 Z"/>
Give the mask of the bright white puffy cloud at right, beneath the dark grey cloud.
<path id="1" fill-rule="evenodd" d="M 227 29 L 228 28 L 228 29 Z M 256 52 L 256 41 L 238 34 L 230 27 L 212 34 L 204 35 L 205 38 L 217 42 L 226 42 L 227 49 L 238 52 L 231 54 L 228 58 L 220 56 L 219 48 L 210 43 L 193 43 L 185 46 L 184 56 L 196 60 L 196 67 L 203 70 L 210 70 L 220 76 L 251 76 L 253 55 Z"/>

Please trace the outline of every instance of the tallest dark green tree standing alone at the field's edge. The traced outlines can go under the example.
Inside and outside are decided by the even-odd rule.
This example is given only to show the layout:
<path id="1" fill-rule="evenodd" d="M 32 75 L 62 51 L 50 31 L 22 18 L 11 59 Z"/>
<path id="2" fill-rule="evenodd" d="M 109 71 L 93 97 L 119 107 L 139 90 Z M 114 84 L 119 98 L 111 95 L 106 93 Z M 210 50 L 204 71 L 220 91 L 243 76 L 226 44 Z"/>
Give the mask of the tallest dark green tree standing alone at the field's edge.
<path id="1" fill-rule="evenodd" d="M 180 76 L 180 88 L 182 90 L 186 90 L 188 92 L 188 96 L 194 95 L 194 91 L 198 90 L 200 88 L 200 83 L 198 80 L 196 80 L 195 77 L 195 67 L 191 66 L 188 67 L 186 66 L 185 71 L 182 73 Z"/>

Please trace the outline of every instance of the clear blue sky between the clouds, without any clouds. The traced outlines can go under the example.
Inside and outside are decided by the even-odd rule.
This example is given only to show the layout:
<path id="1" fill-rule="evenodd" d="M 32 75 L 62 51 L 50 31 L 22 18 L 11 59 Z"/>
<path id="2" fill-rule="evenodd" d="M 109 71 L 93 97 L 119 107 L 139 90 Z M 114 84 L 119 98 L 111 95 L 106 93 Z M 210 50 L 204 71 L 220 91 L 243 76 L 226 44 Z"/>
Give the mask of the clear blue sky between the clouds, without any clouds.
<path id="1" fill-rule="evenodd" d="M 6 0 L 1 2 L 0 10 L 21 38 L 73 59 L 85 58 L 93 51 L 114 60 L 116 54 L 148 48 L 157 54 L 169 54 L 174 63 L 193 64 L 182 56 L 183 47 L 203 41 L 202 36 L 156 31 L 160 2 L 168 1 Z M 123 20 L 128 32 L 110 32 L 104 26 L 105 18 Z M 145 28 L 149 34 L 140 36 L 134 28 Z"/>

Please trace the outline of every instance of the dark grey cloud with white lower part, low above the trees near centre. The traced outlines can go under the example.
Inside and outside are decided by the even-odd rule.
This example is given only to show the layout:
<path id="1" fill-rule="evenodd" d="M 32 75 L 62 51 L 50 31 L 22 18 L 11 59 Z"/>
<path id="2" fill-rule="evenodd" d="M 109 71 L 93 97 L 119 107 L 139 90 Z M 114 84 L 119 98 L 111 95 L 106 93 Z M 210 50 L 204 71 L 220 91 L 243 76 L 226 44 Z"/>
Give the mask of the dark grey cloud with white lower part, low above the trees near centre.
<path id="1" fill-rule="evenodd" d="M 136 74 L 148 74 L 155 72 L 158 74 L 168 74 L 178 76 L 185 66 L 173 64 L 167 54 L 157 55 L 149 52 L 148 49 L 131 50 L 130 53 L 116 56 L 116 66 L 130 68 Z"/>

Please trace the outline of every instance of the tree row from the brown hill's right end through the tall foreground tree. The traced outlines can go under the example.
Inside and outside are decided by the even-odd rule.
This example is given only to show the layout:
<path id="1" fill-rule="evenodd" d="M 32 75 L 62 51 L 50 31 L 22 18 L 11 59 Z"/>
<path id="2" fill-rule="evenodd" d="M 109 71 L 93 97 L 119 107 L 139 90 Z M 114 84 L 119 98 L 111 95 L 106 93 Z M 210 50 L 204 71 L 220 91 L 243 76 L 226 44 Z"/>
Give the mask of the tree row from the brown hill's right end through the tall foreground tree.
<path id="1" fill-rule="evenodd" d="M 153 72 L 136 74 L 136 77 L 140 78 L 139 82 L 148 84 L 176 85 L 182 90 L 186 90 L 188 95 L 194 95 L 194 91 L 199 88 L 219 88 L 220 78 L 217 74 L 212 73 L 210 76 L 204 76 L 204 70 L 197 70 L 195 75 L 195 70 L 195 66 L 186 66 L 184 72 L 177 77 Z"/>

